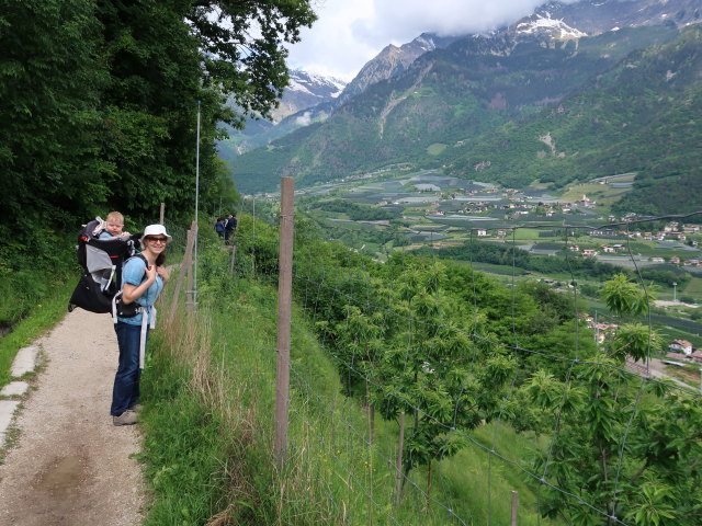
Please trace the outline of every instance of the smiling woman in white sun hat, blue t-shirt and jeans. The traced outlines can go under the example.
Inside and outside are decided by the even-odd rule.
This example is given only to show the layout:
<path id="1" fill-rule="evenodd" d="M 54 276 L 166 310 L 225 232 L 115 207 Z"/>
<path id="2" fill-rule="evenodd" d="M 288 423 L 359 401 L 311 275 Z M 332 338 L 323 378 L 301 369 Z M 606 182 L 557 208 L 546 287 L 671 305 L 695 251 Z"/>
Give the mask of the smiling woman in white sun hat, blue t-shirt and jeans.
<path id="1" fill-rule="evenodd" d="M 141 235 L 141 253 L 131 258 L 122 271 L 122 298 L 125 306 L 138 304 L 136 316 L 117 317 L 114 330 L 120 345 L 120 363 L 112 391 L 112 423 L 131 425 L 138 421 L 139 380 L 148 330 L 156 323 L 154 304 L 168 281 L 166 245 L 171 241 L 162 225 L 149 225 Z"/>

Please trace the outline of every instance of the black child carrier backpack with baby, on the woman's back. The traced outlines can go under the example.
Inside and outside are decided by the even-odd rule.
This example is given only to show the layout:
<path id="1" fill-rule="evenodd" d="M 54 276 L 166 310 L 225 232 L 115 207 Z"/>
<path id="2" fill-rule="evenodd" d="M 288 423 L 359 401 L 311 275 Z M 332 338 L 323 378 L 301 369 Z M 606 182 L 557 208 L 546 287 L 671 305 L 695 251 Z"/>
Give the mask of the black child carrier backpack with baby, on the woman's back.
<path id="1" fill-rule="evenodd" d="M 91 312 L 112 312 L 112 298 L 122 283 L 122 266 L 135 252 L 140 233 L 114 239 L 99 239 L 104 221 L 97 217 L 78 232 L 77 256 L 82 275 L 68 302 Z"/>

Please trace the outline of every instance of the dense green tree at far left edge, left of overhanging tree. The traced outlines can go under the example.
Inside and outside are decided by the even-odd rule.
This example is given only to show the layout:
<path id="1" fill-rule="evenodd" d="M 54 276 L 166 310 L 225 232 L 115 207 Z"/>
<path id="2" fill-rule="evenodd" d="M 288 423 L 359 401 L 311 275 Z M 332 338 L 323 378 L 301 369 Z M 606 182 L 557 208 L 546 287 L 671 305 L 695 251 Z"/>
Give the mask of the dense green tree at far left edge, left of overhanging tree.
<path id="1" fill-rule="evenodd" d="M 0 2 L 0 253 L 13 266 L 24 243 L 36 256 L 37 226 L 60 228 L 105 196 L 100 37 L 90 0 Z"/>

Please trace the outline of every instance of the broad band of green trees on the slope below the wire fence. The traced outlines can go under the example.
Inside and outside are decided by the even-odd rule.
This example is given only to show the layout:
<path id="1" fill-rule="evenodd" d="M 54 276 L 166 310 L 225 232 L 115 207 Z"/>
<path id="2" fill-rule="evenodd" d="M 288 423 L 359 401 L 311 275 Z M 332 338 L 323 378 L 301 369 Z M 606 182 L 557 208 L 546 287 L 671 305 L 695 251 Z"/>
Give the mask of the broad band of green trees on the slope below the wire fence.
<path id="1" fill-rule="evenodd" d="M 405 412 L 403 469 L 415 481 L 426 473 L 428 494 L 432 462 L 499 422 L 533 441 L 533 458 L 514 461 L 546 482 L 543 516 L 578 526 L 608 516 L 637 526 L 699 523 L 699 397 L 623 367 L 625 357 L 645 356 L 655 338 L 647 328 L 625 324 L 598 346 L 574 298 L 544 284 L 507 288 L 467 265 L 411 254 L 380 264 L 301 228 L 297 299 L 346 395 L 389 421 Z M 240 255 L 268 273 L 275 236 L 257 227 L 257 238 Z M 638 287 L 626 276 L 612 282 L 612 306 L 638 311 Z M 614 301 L 615 291 L 624 300 Z"/>

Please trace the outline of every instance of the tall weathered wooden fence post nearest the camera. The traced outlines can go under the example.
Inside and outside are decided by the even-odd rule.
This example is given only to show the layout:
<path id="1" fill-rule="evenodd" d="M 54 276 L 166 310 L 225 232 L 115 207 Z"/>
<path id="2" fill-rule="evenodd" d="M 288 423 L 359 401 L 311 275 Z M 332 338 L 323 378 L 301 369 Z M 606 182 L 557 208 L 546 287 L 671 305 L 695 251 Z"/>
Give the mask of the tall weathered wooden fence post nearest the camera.
<path id="1" fill-rule="evenodd" d="M 290 409 L 290 333 L 293 289 L 293 178 L 281 178 L 281 240 L 278 278 L 278 374 L 275 385 L 275 457 L 286 460 Z"/>

